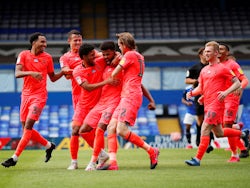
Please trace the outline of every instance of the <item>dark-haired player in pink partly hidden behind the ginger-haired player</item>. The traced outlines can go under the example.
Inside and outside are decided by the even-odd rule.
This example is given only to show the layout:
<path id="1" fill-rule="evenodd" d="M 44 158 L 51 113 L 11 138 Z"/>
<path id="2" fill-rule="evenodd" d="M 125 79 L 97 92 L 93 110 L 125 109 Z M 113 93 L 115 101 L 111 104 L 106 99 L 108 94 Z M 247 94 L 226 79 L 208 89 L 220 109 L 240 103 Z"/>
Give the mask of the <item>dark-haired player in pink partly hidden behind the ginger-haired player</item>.
<path id="1" fill-rule="evenodd" d="M 229 94 L 225 98 L 225 111 L 223 118 L 224 127 L 232 128 L 233 124 L 236 123 L 236 116 L 238 112 L 238 107 L 240 104 L 240 97 L 242 95 L 243 89 L 248 85 L 248 78 L 244 75 L 243 70 L 240 65 L 233 60 L 232 58 L 228 58 L 229 55 L 229 46 L 225 43 L 220 43 L 219 46 L 219 58 L 220 62 L 231 69 L 237 78 L 241 82 L 241 87 L 237 90 L 236 93 Z M 245 158 L 249 156 L 248 152 L 248 142 L 245 143 L 246 146 L 241 142 L 239 137 L 228 137 L 228 143 L 230 146 L 230 150 L 232 151 L 231 158 L 228 162 L 239 162 L 240 158 Z M 238 155 L 237 148 L 240 149 L 241 153 Z"/>

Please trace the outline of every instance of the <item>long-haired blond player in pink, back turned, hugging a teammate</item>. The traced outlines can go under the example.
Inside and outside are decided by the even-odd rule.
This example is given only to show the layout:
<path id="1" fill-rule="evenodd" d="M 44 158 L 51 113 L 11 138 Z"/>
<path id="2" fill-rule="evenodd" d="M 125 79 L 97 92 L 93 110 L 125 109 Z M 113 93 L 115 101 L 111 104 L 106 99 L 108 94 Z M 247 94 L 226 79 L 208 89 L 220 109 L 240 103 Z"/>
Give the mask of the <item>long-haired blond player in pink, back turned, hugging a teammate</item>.
<path id="1" fill-rule="evenodd" d="M 119 33 L 117 34 L 117 38 L 123 58 L 112 72 L 111 77 L 115 79 L 123 71 L 123 86 L 120 103 L 115 109 L 108 125 L 110 163 L 99 168 L 99 170 L 118 170 L 116 133 L 125 140 L 146 150 L 151 160 L 150 168 L 154 169 L 158 163 L 159 150 L 151 147 L 129 129 L 130 126 L 134 125 L 138 110 L 142 104 L 142 76 L 145 68 L 144 57 L 136 51 L 135 40 L 130 33 Z"/>

